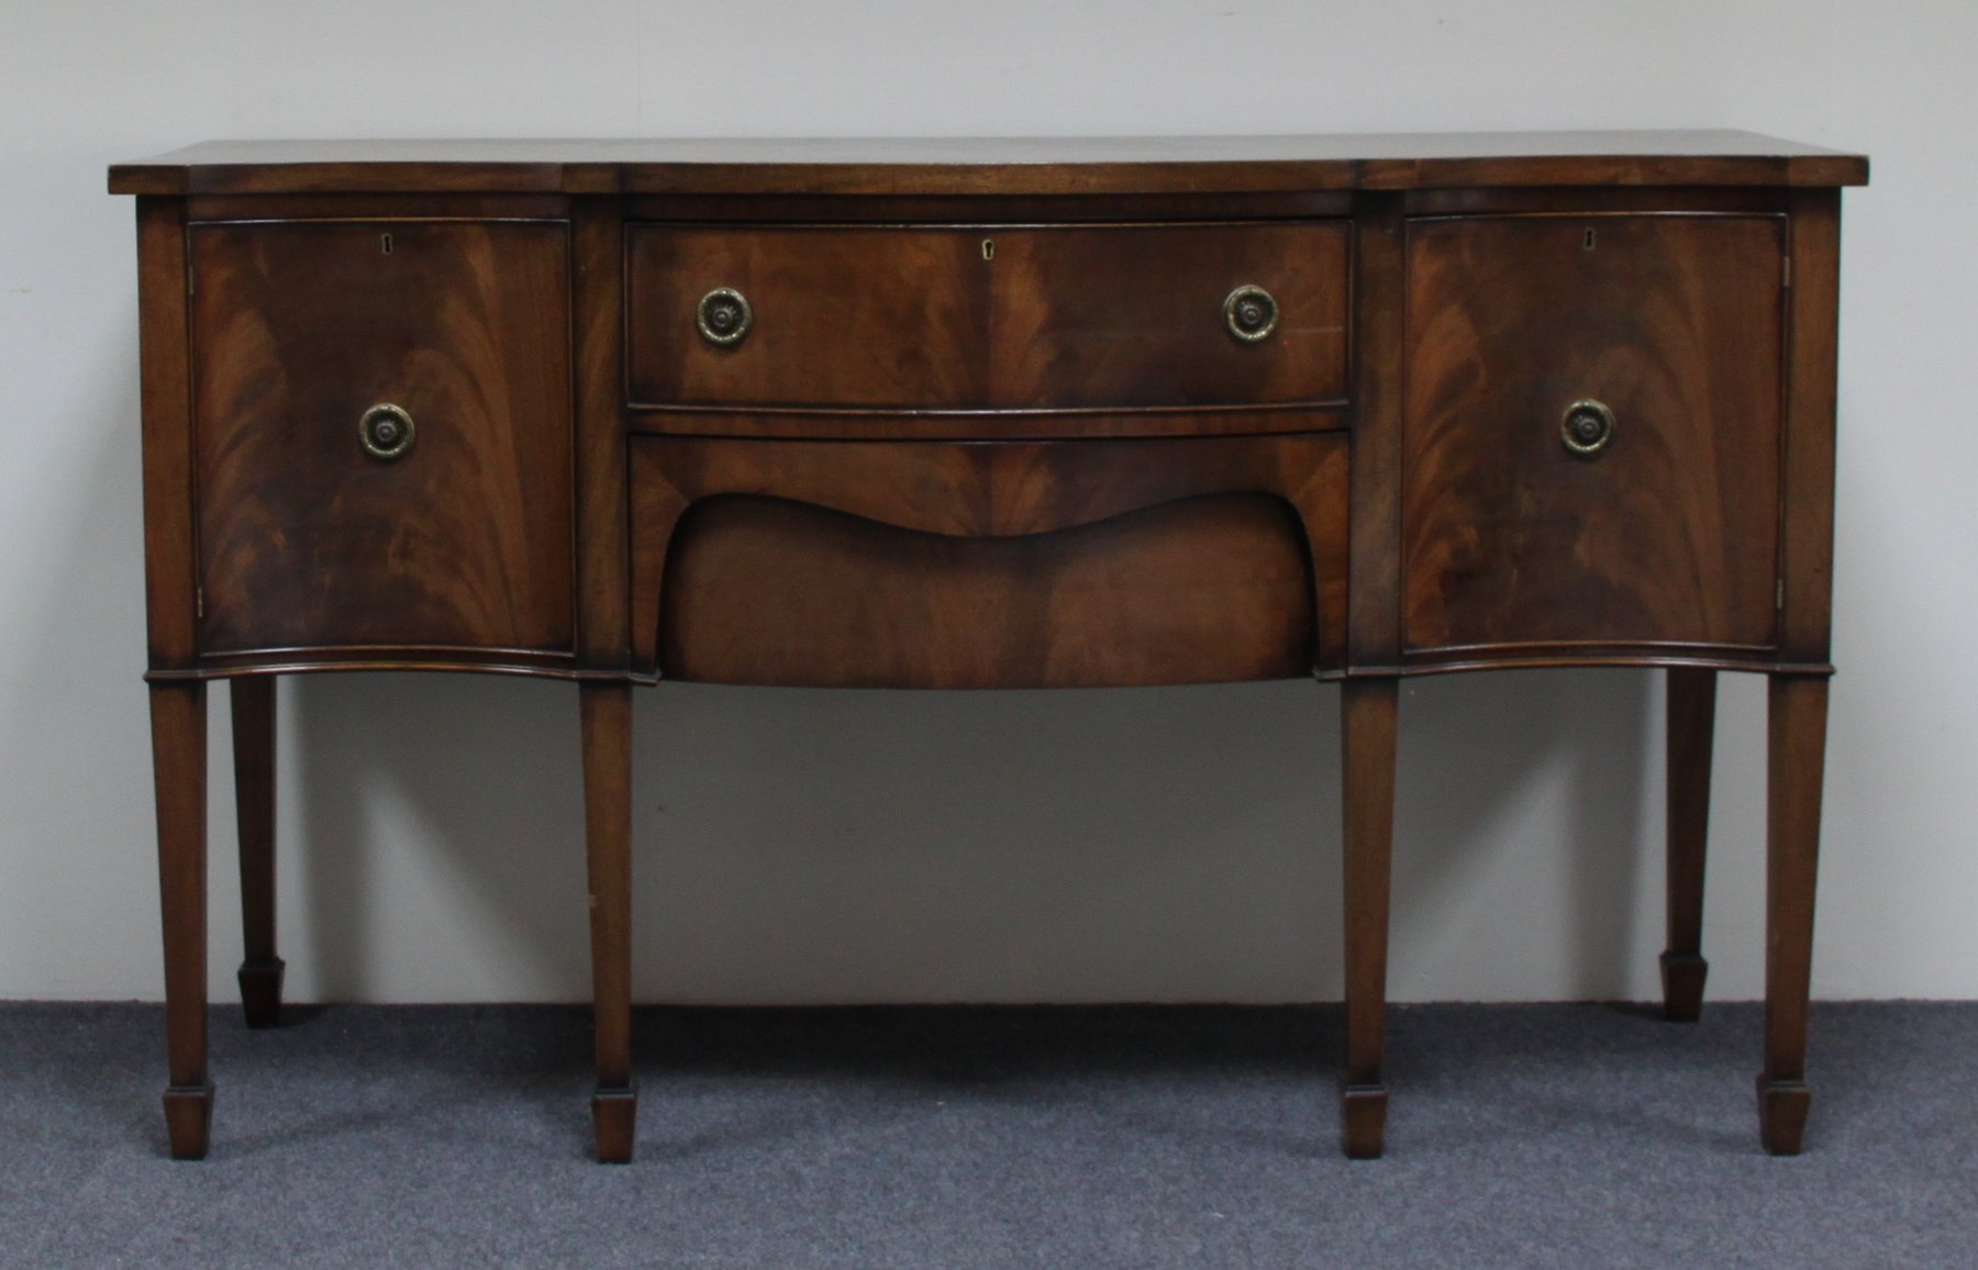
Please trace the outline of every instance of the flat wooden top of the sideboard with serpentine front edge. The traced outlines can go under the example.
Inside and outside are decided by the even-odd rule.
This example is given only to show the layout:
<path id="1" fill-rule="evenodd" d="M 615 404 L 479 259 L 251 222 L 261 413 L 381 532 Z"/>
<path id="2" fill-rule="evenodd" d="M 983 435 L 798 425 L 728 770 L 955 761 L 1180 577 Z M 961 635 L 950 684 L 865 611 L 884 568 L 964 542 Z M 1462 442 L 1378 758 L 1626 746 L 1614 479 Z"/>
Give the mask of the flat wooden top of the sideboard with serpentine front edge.
<path id="1" fill-rule="evenodd" d="M 111 194 L 1248 194 L 1448 186 L 1859 186 L 1867 158 L 1756 133 L 210 140 Z"/>

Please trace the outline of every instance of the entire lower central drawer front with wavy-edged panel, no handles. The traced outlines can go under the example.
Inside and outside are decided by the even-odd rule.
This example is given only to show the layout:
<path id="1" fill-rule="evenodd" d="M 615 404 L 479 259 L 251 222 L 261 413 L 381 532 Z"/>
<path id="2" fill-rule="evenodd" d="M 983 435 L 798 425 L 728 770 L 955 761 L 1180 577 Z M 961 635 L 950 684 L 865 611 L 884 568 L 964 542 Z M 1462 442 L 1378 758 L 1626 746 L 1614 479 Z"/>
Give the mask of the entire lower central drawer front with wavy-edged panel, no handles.
<path id="1" fill-rule="evenodd" d="M 633 665 L 890 688 L 1337 671 L 1347 445 L 635 437 Z"/>

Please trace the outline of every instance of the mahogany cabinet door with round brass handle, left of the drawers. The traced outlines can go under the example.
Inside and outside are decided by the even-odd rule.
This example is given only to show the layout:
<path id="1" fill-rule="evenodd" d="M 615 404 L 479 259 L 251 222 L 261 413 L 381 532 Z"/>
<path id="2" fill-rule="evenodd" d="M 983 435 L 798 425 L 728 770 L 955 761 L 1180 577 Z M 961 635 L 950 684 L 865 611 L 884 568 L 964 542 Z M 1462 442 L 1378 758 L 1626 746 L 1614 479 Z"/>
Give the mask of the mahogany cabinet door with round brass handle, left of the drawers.
<path id="1" fill-rule="evenodd" d="M 568 226 L 208 222 L 190 265 L 202 653 L 568 653 Z"/>

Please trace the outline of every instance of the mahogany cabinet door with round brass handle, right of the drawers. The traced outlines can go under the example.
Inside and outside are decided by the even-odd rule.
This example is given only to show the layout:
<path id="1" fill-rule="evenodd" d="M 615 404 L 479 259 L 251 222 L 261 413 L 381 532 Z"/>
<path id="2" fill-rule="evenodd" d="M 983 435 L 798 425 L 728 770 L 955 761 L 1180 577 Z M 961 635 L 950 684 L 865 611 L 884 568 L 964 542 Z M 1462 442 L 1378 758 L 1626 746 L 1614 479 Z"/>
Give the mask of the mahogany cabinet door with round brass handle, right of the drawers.
<path id="1" fill-rule="evenodd" d="M 1786 220 L 1408 226 L 1410 659 L 1776 643 Z"/>

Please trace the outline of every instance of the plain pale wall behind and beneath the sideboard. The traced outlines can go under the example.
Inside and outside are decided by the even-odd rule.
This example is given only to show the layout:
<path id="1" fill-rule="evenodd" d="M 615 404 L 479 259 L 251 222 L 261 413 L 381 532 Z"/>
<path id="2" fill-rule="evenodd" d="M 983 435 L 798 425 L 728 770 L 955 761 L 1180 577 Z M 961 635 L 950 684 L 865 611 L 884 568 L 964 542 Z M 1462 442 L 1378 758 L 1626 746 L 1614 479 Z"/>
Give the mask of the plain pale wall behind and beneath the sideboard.
<path id="1" fill-rule="evenodd" d="M 1845 200 L 1816 989 L 1978 997 L 1978 8 L 1770 0 L 6 0 L 0 997 L 156 997 L 133 208 L 208 136 L 1745 127 Z M 291 999 L 582 999 L 576 700 L 287 680 Z M 637 993 L 1339 993 L 1337 692 L 639 694 Z M 214 694 L 214 993 L 239 957 Z M 1396 999 L 1650 997 L 1660 680 L 1402 696 Z M 1707 953 L 1760 991 L 1762 688 L 1723 690 Z"/>

